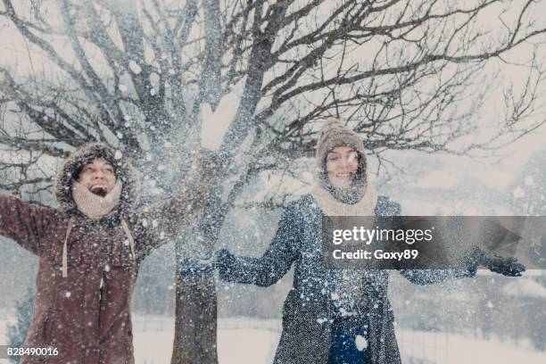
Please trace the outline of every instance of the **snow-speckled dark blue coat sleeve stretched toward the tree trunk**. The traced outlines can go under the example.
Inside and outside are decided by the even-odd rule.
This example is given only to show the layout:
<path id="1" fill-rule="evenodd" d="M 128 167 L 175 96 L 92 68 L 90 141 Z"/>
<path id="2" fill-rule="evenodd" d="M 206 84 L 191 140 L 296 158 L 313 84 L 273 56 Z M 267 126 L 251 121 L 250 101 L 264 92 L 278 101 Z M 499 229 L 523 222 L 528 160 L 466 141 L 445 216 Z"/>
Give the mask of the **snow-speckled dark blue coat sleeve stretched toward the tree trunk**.
<path id="1" fill-rule="evenodd" d="M 294 205 L 283 212 L 275 237 L 260 258 L 236 257 L 219 251 L 219 277 L 227 282 L 269 286 L 284 277 L 297 258 L 299 230 Z"/>

